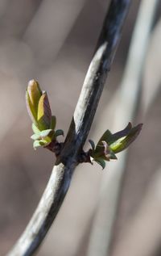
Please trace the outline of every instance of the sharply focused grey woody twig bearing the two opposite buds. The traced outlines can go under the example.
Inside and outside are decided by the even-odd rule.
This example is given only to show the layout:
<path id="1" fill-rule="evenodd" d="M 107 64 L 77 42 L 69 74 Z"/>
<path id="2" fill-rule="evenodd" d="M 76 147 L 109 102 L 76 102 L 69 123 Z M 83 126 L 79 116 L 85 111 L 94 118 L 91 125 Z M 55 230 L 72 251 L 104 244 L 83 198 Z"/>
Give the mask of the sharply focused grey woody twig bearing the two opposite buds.
<path id="1" fill-rule="evenodd" d="M 130 0 L 113 0 L 105 17 L 101 36 L 93 61 L 81 90 L 72 123 L 64 143 L 64 149 L 56 160 L 51 178 L 39 202 L 38 208 L 23 235 L 8 256 L 29 256 L 35 253 L 52 225 L 78 164 L 79 155 L 89 134 L 97 104 L 105 84 L 105 78 L 114 59 L 114 53 L 122 34 L 122 25 L 130 6 Z"/>

